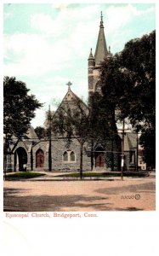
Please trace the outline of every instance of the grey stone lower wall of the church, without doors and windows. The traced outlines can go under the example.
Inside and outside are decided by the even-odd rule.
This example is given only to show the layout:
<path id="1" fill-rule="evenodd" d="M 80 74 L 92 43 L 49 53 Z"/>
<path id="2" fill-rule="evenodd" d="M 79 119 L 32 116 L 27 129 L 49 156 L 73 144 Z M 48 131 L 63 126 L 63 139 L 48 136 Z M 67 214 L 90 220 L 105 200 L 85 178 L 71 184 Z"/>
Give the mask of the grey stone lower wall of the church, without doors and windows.
<path id="1" fill-rule="evenodd" d="M 95 168 L 95 150 L 98 151 L 98 147 L 103 148 L 103 152 L 105 155 L 105 165 L 103 167 L 103 171 L 120 171 L 121 168 L 121 151 L 122 151 L 122 142 L 121 138 L 118 137 L 116 140 L 101 140 L 98 143 L 98 146 L 94 148 L 94 166 L 93 170 L 98 171 Z M 16 150 L 18 148 L 24 148 L 27 154 L 27 170 L 34 171 L 48 171 L 49 170 L 49 141 L 41 140 L 40 142 L 34 144 L 33 146 L 29 142 L 19 142 L 14 148 L 14 152 L 7 157 L 7 172 L 17 172 L 19 171 L 18 160 L 16 161 L 15 166 L 15 157 Z M 44 164 L 42 168 L 37 168 L 36 166 L 36 154 L 37 150 L 42 149 L 44 155 Z M 85 143 L 83 145 L 83 171 L 91 171 L 91 148 L 88 147 L 88 144 Z M 100 149 L 101 150 L 101 149 Z M 133 149 L 134 150 L 134 149 Z M 111 152 L 114 151 L 112 154 Z M 64 159 L 64 153 L 67 152 L 68 160 Z M 74 153 L 75 159 L 71 160 L 71 152 Z M 136 156 L 136 152 L 135 152 Z M 51 159 L 52 159 L 52 171 L 55 172 L 78 172 L 80 169 L 80 143 L 77 141 L 77 138 L 71 139 L 71 143 L 68 143 L 67 138 L 65 137 L 53 137 L 51 143 Z M 136 166 L 136 159 L 134 159 L 134 163 L 130 163 L 130 153 L 125 152 L 125 164 L 127 166 L 127 170 L 133 171 Z"/>

